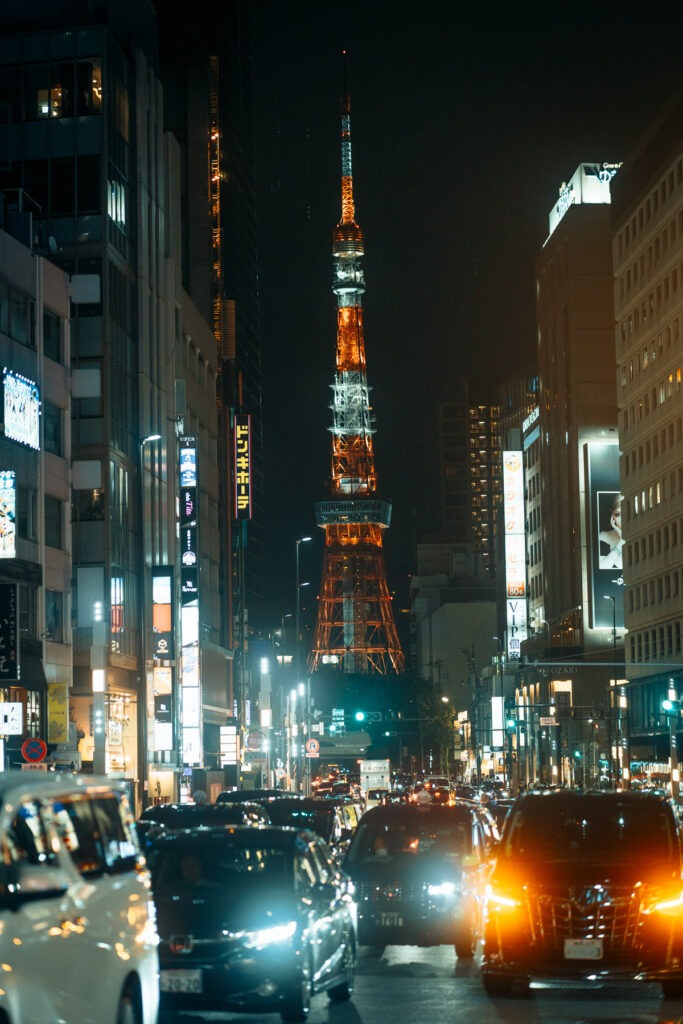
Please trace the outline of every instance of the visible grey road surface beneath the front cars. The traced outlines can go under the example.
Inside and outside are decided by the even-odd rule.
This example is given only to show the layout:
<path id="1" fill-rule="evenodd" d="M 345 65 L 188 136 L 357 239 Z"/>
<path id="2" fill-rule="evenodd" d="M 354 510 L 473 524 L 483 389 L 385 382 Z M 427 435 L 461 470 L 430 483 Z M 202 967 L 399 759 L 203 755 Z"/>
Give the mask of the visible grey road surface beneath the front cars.
<path id="1" fill-rule="evenodd" d="M 182 1024 L 280 1024 L 276 1014 L 207 1014 Z M 180 1024 L 180 1021 L 178 1024 Z M 657 985 L 537 986 L 528 996 L 489 998 L 478 963 L 457 964 L 449 946 L 362 948 L 353 999 L 313 999 L 308 1024 L 683 1024 L 683 999 Z"/>

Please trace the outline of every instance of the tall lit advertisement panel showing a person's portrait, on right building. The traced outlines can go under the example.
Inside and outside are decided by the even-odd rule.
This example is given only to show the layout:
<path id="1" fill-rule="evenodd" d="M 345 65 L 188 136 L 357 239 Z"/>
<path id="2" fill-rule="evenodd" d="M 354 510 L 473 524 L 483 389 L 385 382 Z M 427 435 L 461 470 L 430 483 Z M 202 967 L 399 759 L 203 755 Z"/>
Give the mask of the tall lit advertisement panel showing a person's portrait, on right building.
<path id="1" fill-rule="evenodd" d="M 590 572 L 593 595 L 593 627 L 624 629 L 624 538 L 618 445 L 589 443 L 586 445 L 586 458 L 590 502 L 587 517 L 590 559 L 587 571 Z"/>

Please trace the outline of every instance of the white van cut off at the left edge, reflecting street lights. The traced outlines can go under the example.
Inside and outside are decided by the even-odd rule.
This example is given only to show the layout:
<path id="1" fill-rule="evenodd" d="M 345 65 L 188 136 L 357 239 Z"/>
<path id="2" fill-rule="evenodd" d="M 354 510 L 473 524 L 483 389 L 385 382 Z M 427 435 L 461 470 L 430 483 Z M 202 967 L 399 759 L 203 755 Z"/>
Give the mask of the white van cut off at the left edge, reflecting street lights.
<path id="1" fill-rule="evenodd" d="M 123 783 L 0 774 L 0 1020 L 156 1024 L 151 877 Z"/>

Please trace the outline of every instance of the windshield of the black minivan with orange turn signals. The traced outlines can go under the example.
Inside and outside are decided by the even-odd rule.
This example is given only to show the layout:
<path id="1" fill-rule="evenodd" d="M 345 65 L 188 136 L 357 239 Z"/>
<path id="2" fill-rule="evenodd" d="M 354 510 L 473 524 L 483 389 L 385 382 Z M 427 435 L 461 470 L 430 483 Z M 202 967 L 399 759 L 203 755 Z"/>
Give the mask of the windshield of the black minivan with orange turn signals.
<path id="1" fill-rule="evenodd" d="M 664 807 L 601 800 L 552 805 L 543 799 L 511 812 L 502 852 L 509 860 L 663 863 L 676 838 Z"/>

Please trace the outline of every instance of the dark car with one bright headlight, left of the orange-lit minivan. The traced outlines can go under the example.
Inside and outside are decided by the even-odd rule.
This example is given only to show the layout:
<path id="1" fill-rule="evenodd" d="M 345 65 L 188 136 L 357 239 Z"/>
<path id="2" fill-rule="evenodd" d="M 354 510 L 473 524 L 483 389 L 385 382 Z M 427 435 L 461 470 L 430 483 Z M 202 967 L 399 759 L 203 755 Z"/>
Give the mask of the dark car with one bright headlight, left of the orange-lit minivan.
<path id="1" fill-rule="evenodd" d="M 361 945 L 452 944 L 473 956 L 481 936 L 490 844 L 474 808 L 374 807 L 343 861 L 356 889 Z"/>

